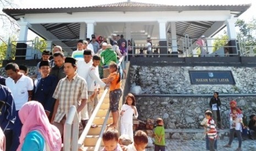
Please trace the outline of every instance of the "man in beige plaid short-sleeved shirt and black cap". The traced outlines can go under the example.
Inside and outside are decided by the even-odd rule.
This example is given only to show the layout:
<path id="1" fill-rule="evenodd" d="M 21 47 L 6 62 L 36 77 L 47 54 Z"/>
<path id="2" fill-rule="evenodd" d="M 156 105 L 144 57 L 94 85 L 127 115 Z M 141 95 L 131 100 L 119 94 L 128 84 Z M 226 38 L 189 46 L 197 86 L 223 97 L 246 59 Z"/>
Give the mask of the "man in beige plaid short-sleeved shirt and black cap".
<path id="1" fill-rule="evenodd" d="M 87 83 L 75 71 L 77 70 L 77 60 L 72 57 L 66 57 L 64 63 L 64 72 L 66 78 L 59 80 L 57 88 L 53 94 L 56 98 L 51 123 L 58 127 L 63 135 L 64 123 L 69 114 L 71 106 L 77 108 L 79 112 L 85 107 L 88 100 Z M 80 116 L 79 116 L 80 121 Z"/>

